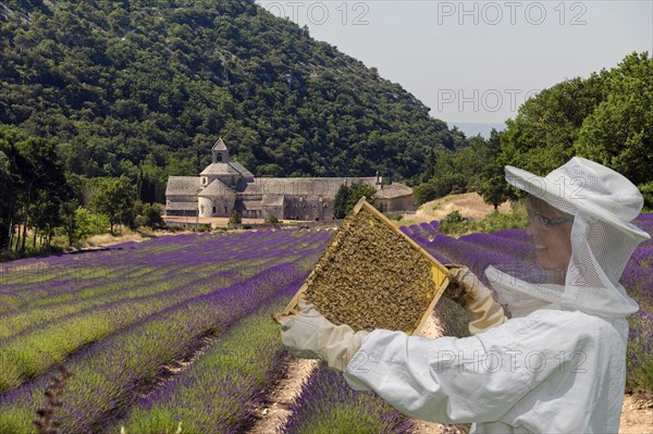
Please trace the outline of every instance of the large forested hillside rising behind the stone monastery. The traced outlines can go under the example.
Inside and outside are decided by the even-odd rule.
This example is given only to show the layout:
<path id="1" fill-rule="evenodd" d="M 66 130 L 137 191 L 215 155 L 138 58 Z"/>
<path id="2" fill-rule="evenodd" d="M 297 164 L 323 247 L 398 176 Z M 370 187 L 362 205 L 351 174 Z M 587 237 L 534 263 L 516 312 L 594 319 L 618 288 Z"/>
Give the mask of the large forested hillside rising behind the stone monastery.
<path id="1" fill-rule="evenodd" d="M 0 123 L 88 177 L 194 175 L 224 137 L 259 176 L 411 178 L 463 140 L 399 85 L 254 0 L 0 2 Z"/>

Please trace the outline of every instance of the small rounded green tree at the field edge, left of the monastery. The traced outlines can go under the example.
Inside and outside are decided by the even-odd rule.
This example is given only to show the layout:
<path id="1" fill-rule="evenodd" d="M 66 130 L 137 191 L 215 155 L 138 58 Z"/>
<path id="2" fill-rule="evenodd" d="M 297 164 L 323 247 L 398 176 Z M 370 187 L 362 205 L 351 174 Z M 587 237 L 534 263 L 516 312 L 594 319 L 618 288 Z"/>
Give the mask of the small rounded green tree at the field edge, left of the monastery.
<path id="1" fill-rule="evenodd" d="M 136 190 L 130 179 L 101 178 L 97 182 L 96 191 L 90 198 L 91 208 L 96 213 L 109 218 L 111 234 L 115 224 L 131 224 L 134 219 L 134 201 Z"/>

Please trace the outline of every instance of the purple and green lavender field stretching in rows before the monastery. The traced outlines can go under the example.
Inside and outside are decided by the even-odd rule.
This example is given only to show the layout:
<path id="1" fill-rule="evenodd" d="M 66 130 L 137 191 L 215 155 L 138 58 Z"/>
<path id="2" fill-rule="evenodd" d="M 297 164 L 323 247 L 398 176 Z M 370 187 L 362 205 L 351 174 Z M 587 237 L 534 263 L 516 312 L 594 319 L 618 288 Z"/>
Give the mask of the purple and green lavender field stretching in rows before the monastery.
<path id="1" fill-rule="evenodd" d="M 653 214 L 636 223 L 653 232 Z M 523 231 L 456 239 L 438 222 L 402 230 L 439 260 L 477 272 L 532 255 Z M 61 363 L 73 374 L 57 410 L 62 433 L 248 432 L 288 358 L 271 314 L 332 234 L 177 235 L 0 265 L 0 433 L 37 432 Z M 641 306 L 631 318 L 630 392 L 653 392 L 652 265 L 649 241 L 621 280 Z M 392 407 L 323 368 L 292 410 L 284 432 L 411 432 Z"/>

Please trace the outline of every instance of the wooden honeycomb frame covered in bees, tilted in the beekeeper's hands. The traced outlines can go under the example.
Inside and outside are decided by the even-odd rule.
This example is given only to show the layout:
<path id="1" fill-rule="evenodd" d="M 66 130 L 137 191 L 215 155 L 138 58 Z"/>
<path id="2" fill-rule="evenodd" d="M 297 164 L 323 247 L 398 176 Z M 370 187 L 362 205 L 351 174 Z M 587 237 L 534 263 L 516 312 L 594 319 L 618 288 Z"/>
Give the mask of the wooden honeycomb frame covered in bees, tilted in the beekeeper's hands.
<path id="1" fill-rule="evenodd" d="M 362 197 L 279 315 L 305 296 L 334 324 L 419 334 L 447 285 L 446 268 Z"/>

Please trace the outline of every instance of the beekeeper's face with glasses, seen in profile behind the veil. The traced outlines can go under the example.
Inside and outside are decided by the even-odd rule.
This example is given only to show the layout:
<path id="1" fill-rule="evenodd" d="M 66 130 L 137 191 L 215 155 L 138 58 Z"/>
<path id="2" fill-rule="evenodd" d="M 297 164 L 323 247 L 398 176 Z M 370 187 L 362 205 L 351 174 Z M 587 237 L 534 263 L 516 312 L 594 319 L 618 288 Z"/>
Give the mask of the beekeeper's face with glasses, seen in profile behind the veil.
<path id="1" fill-rule="evenodd" d="M 538 265 L 560 276 L 564 283 L 571 259 L 571 224 L 574 218 L 553 208 L 545 201 L 529 196 L 526 201 L 529 225 L 527 233 L 533 237 Z"/>

